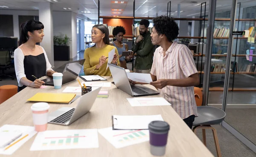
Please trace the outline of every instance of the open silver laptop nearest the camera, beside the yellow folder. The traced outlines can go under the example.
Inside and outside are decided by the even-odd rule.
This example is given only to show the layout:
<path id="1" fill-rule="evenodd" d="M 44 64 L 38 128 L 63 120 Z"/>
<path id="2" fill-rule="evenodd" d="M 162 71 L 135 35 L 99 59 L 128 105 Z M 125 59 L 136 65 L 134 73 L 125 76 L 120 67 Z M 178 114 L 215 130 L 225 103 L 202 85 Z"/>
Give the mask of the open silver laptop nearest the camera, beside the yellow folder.
<path id="1" fill-rule="evenodd" d="M 49 114 L 48 123 L 68 126 L 84 114 L 87 114 L 92 108 L 100 89 L 101 87 L 82 95 L 76 108 L 63 107 L 57 111 L 53 111 Z"/>

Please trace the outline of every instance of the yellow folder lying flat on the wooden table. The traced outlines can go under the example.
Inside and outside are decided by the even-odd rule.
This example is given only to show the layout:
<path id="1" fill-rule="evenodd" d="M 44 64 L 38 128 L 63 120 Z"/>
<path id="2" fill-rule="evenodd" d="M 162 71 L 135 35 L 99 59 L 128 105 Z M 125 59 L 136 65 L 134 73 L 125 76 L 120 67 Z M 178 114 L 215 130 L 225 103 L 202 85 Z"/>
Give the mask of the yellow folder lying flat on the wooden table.
<path id="1" fill-rule="evenodd" d="M 37 93 L 27 101 L 48 102 L 48 103 L 69 103 L 76 94 L 66 93 Z"/>

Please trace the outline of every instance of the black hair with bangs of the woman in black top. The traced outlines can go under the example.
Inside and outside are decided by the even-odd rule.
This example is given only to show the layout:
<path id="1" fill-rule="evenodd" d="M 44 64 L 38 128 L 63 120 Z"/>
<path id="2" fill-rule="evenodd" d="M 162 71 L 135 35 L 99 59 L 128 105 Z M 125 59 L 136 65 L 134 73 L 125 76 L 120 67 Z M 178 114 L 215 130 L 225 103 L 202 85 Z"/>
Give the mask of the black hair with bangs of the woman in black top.
<path id="1" fill-rule="evenodd" d="M 44 29 L 43 23 L 35 20 L 28 20 L 25 23 L 22 23 L 20 25 L 21 31 L 20 31 L 20 44 L 26 43 L 29 39 L 28 32 L 30 31 L 33 33 L 35 30 L 41 30 Z"/>

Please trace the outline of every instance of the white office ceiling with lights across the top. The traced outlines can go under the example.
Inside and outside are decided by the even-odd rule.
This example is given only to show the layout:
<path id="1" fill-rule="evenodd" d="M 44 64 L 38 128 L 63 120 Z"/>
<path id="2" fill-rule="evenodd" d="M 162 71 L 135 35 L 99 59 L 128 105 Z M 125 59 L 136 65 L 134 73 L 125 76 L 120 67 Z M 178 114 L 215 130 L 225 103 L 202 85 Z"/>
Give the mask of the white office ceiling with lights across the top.
<path id="1" fill-rule="evenodd" d="M 133 16 L 134 0 L 122 0 L 123 4 L 111 3 L 111 0 L 100 0 L 100 16 Z M 145 2 L 146 1 L 146 2 Z M 135 12 L 136 17 L 156 17 L 157 15 L 167 14 L 167 3 L 170 0 L 136 0 Z M 256 0 L 239 0 L 241 7 L 256 6 Z M 10 10 L 38 10 L 39 2 L 48 2 L 47 0 L 0 0 L 0 6 L 8 6 Z M 126 3 L 127 2 L 127 3 Z M 172 17 L 177 17 L 177 4 L 180 3 L 180 17 L 191 18 L 192 16 L 200 16 L 201 6 L 195 6 L 198 3 L 207 2 L 206 14 L 209 10 L 209 0 L 172 0 L 171 14 Z M 58 0 L 53 3 L 53 11 L 73 11 L 78 14 L 83 14 L 92 20 L 98 19 L 98 0 Z M 143 4 L 144 3 L 144 4 Z M 231 9 L 232 0 L 217 0 L 216 12 L 229 11 Z M 71 8 L 64 10 L 63 8 Z M 111 11 L 111 9 L 123 9 L 122 11 Z M 150 11 L 149 11 L 150 10 Z M 203 7 L 204 11 L 204 7 Z M 122 14 L 112 14 L 112 12 L 121 12 Z"/>

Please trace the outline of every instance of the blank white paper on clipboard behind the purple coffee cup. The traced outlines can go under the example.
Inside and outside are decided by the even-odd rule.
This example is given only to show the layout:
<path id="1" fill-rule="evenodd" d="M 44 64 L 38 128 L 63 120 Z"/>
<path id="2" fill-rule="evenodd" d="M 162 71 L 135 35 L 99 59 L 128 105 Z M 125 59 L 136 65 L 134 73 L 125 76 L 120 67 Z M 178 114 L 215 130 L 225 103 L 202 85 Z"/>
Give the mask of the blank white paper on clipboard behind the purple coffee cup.
<path id="1" fill-rule="evenodd" d="M 161 120 L 161 114 L 145 116 L 113 115 L 114 129 L 148 129 L 148 124 L 154 120 Z"/>

